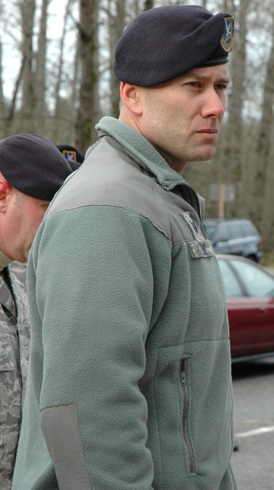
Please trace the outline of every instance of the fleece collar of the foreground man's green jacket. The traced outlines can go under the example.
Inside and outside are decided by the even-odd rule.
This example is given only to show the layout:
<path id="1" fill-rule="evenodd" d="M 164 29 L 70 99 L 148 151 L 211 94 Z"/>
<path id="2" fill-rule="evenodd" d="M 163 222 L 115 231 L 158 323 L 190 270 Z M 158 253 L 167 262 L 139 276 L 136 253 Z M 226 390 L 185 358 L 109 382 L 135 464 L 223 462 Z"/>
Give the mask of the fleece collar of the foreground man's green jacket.
<path id="1" fill-rule="evenodd" d="M 159 184 L 164 189 L 169 190 L 170 186 L 173 188 L 174 185 L 185 183 L 182 176 L 170 168 L 166 160 L 150 145 L 149 141 L 128 124 L 106 116 L 95 127 L 97 131 L 101 130 L 108 133 L 130 153 L 136 155 L 140 160 L 139 163 L 157 177 Z"/>

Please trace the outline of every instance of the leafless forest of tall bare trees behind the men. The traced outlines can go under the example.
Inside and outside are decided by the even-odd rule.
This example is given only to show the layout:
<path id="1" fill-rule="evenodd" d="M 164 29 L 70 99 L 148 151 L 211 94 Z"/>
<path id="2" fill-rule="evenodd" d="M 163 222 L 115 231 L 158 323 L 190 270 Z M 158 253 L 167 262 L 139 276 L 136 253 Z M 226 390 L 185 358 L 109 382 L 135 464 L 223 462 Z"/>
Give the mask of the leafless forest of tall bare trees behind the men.
<path id="1" fill-rule="evenodd" d="M 63 0 L 60 26 L 49 30 L 53 0 L 0 0 L 0 138 L 32 132 L 83 153 L 96 141 L 95 124 L 119 115 L 114 47 L 141 11 L 168 0 Z M 172 2 L 172 0 L 170 0 Z M 61 3 L 61 1 L 60 1 Z M 217 216 L 210 185 L 233 184 L 227 217 L 248 217 L 274 249 L 274 2 L 197 3 L 235 19 L 231 85 L 219 147 L 209 162 L 190 163 L 184 178 Z M 50 5 L 51 4 L 51 5 Z M 16 60 L 16 63 L 15 63 Z M 9 76 L 7 86 L 5 77 Z M 18 68 L 17 68 L 18 67 Z"/>

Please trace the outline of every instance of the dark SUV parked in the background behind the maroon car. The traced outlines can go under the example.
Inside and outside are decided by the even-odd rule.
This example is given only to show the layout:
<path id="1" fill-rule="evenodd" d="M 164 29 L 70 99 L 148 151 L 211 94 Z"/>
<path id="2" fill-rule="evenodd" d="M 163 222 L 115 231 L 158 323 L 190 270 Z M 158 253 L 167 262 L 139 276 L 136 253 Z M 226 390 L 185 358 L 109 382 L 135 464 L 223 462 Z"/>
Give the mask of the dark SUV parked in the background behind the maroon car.
<path id="1" fill-rule="evenodd" d="M 249 220 L 205 218 L 207 236 L 215 253 L 242 255 L 259 262 L 262 257 L 262 238 Z"/>

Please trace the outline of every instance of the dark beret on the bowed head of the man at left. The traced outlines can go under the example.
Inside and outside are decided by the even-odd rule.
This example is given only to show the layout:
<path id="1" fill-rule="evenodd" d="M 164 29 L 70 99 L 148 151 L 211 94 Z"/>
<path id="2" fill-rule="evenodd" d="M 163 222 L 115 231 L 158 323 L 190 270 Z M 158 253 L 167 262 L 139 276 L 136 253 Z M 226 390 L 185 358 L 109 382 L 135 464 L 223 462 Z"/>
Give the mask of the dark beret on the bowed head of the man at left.
<path id="1" fill-rule="evenodd" d="M 16 134 L 0 141 L 0 172 L 18 191 L 51 201 L 73 170 L 50 140 Z"/>

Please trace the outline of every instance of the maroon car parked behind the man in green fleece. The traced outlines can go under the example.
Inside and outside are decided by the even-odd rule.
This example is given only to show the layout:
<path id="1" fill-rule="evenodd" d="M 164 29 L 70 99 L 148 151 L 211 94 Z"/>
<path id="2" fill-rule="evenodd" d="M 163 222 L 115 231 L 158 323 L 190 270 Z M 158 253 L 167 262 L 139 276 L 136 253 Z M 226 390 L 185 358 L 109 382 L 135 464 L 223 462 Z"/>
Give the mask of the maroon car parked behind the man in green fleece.
<path id="1" fill-rule="evenodd" d="M 232 361 L 274 355 L 274 276 L 243 257 L 218 254 L 217 259 L 226 291 Z"/>

